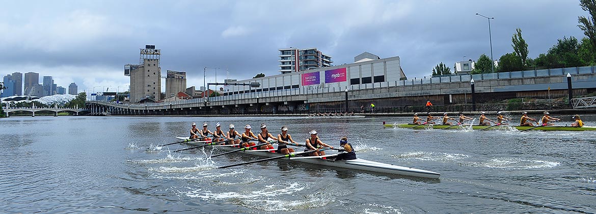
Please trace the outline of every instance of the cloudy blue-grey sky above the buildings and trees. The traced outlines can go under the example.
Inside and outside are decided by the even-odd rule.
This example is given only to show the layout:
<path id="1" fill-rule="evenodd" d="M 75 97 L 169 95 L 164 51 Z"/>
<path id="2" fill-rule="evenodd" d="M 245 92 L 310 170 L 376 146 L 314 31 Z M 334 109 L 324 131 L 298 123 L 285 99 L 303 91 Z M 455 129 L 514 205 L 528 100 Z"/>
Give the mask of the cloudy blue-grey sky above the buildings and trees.
<path id="1" fill-rule="evenodd" d="M 5 1 L 0 7 L 0 75 L 36 72 L 79 91 L 122 91 L 124 64 L 138 63 L 145 44 L 162 49 L 166 70 L 203 85 L 203 67 L 218 80 L 278 75 L 279 48 L 316 47 L 334 64 L 364 51 L 399 56 L 408 78 L 440 62 L 495 59 L 522 29 L 529 57 L 564 36 L 583 38 L 577 0 L 541 1 Z M 464 57 L 465 56 L 465 57 Z M 207 70 L 213 82 L 215 69 Z M 41 82 L 41 80 L 40 80 Z M 120 86 L 120 88 L 118 88 Z M 164 86 L 164 84 L 162 84 Z"/>

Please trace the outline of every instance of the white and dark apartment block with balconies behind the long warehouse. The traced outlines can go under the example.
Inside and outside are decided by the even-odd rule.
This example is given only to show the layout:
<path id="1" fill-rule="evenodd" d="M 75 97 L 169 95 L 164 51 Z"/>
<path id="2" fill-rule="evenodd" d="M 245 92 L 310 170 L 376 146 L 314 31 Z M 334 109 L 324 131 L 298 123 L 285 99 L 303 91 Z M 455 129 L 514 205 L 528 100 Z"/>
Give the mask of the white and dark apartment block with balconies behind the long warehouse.
<path id="1" fill-rule="evenodd" d="M 280 51 L 280 72 L 300 72 L 318 67 L 331 67 L 331 57 L 323 54 L 316 48 L 298 49 L 285 48 Z"/>

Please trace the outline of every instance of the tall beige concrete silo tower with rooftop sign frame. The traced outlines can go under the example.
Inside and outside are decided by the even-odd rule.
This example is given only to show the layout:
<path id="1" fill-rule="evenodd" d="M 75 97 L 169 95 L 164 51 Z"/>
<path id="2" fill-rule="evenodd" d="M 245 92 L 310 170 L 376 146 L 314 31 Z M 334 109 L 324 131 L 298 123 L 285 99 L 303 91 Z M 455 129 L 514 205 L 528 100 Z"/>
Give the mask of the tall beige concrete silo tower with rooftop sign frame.
<path id="1" fill-rule="evenodd" d="M 131 102 L 150 98 L 157 101 L 161 99 L 162 93 L 162 68 L 159 61 L 161 49 L 155 49 L 155 45 L 145 45 L 140 49 L 139 64 L 126 64 L 124 75 L 131 77 Z"/>

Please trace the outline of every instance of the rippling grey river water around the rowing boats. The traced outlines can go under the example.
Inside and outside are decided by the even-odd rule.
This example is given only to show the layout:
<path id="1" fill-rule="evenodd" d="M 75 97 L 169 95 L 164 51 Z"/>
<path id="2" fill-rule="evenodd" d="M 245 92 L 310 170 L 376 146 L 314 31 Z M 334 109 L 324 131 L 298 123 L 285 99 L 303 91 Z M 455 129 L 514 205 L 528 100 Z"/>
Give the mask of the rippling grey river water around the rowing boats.
<path id="1" fill-rule="evenodd" d="M 569 118 L 569 116 L 562 116 Z M 594 126 L 595 116 L 584 117 Z M 0 119 L 0 213 L 596 213 L 596 133 L 383 128 L 409 117 L 10 117 Z M 156 147 L 190 123 L 311 129 L 358 157 L 441 173 L 411 178 L 221 151 Z M 570 123 L 570 119 L 561 123 Z M 147 148 L 150 148 L 147 150 Z"/>

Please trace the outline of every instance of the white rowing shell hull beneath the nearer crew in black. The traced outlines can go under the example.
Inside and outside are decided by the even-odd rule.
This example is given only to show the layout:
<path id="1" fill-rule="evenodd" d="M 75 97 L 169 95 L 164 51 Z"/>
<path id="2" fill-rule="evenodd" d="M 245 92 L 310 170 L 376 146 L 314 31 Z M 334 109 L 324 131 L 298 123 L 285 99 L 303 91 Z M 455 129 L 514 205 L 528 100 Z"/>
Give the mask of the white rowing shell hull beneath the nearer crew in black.
<path id="1" fill-rule="evenodd" d="M 176 138 L 188 139 L 185 137 L 176 137 Z M 195 143 L 192 143 L 190 145 L 195 145 Z M 226 145 L 215 145 L 213 147 L 216 147 L 218 149 L 225 150 L 225 151 L 232 151 L 232 150 L 238 149 L 237 147 L 231 147 L 231 146 L 226 146 Z M 278 157 L 281 155 L 278 153 L 271 153 L 270 151 L 259 151 L 259 150 L 247 150 L 247 151 L 240 151 L 237 153 L 249 154 L 249 155 L 253 155 L 253 156 L 261 156 L 261 157 Z M 388 174 L 393 174 L 393 175 L 415 176 L 415 177 L 422 177 L 422 178 L 437 179 L 441 175 L 440 173 L 431 172 L 428 170 L 408 168 L 405 166 L 390 165 L 387 163 L 374 162 L 371 160 L 364 160 L 364 159 L 359 159 L 359 158 L 357 158 L 355 160 L 331 160 L 331 159 L 321 159 L 321 158 L 311 158 L 311 157 L 291 157 L 290 161 L 301 162 L 301 163 L 311 163 L 313 165 L 323 165 L 323 166 L 331 166 L 331 167 L 345 168 L 345 169 L 356 169 L 356 170 L 365 170 L 365 171 L 370 171 L 370 172 L 388 173 Z"/>

